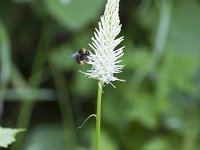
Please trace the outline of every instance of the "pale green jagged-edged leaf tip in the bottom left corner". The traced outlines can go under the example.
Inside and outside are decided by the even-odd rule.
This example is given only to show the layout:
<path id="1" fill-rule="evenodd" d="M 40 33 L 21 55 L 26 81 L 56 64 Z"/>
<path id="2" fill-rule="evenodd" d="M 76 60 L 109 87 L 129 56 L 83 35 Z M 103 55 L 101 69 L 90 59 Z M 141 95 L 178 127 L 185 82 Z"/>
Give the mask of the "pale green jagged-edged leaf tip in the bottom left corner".
<path id="1" fill-rule="evenodd" d="M 7 148 L 9 144 L 16 140 L 16 134 L 22 131 L 24 131 L 24 129 L 10 129 L 0 127 L 0 147 Z"/>

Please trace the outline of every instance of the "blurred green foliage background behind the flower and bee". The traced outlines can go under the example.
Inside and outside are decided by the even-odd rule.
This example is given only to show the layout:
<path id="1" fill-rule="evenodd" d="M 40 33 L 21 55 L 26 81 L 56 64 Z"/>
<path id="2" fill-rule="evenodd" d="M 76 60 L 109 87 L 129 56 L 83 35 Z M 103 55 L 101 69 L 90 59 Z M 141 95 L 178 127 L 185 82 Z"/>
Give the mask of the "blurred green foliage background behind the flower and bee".
<path id="1" fill-rule="evenodd" d="M 97 81 L 70 55 L 89 48 L 106 0 L 0 1 L 1 126 L 9 150 L 93 150 Z M 102 150 L 200 149 L 200 1 L 121 0 L 125 40 L 104 87 Z"/>

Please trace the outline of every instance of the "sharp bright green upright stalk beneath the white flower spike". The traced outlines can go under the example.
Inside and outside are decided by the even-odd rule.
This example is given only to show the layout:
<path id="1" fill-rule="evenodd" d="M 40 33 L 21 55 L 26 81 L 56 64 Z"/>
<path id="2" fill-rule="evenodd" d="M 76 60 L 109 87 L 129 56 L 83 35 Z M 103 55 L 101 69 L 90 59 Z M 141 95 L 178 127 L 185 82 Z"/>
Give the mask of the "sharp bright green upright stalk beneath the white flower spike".
<path id="1" fill-rule="evenodd" d="M 99 145 L 100 145 L 102 87 L 103 87 L 103 82 L 99 81 L 98 95 L 97 95 L 97 117 L 96 117 L 96 150 L 99 150 Z"/>

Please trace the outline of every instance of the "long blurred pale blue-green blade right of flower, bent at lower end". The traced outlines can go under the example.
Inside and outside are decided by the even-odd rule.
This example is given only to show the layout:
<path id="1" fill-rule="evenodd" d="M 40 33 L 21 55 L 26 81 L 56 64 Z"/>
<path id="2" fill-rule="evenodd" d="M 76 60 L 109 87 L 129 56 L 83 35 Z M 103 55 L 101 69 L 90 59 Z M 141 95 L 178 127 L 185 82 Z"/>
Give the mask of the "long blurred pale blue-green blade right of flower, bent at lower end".
<path id="1" fill-rule="evenodd" d="M 147 74 L 156 68 L 159 64 L 160 59 L 164 55 L 165 45 L 167 43 L 167 36 L 170 29 L 171 13 L 172 13 L 172 0 L 161 0 L 160 1 L 160 18 L 158 23 L 158 30 L 154 42 L 154 51 L 151 60 L 151 67 L 146 70 L 138 69 L 134 72 L 134 75 L 131 79 L 131 86 L 134 85 L 135 88 L 138 88 L 142 81 L 145 79 Z"/>

